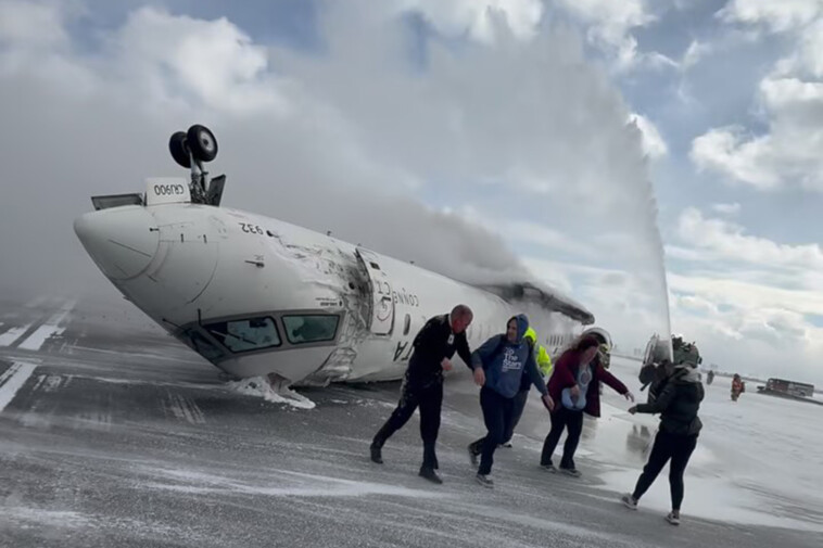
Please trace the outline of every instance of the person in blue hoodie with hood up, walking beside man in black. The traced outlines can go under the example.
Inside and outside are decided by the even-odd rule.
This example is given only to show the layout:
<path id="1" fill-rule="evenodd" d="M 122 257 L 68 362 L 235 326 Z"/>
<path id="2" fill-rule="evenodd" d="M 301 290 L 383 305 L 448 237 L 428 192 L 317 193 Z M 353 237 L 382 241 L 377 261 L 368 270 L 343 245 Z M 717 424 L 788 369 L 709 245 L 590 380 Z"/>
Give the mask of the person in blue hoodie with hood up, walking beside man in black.
<path id="1" fill-rule="evenodd" d="M 520 390 L 523 375 L 529 375 L 532 384 L 543 396 L 544 405 L 552 410 L 554 402 L 548 396 L 546 385 L 537 370 L 532 347 L 523 340 L 529 329 L 529 318 L 518 315 L 508 320 L 505 334 L 489 339 L 471 355 L 474 380 L 482 381 L 480 407 L 483 421 L 489 430 L 485 436 L 469 445 L 471 462 L 481 456 L 477 481 L 484 487 L 493 487 L 489 477 L 494 462 L 494 450 L 505 442 L 506 433 L 514 419 L 515 396 Z"/>

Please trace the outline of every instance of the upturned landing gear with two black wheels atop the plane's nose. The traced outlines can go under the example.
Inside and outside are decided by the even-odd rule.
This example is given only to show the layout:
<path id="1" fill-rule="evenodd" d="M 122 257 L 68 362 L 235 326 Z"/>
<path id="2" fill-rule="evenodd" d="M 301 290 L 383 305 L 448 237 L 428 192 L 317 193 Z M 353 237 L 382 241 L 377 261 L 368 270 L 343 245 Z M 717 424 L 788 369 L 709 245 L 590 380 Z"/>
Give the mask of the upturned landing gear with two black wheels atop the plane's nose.
<path id="1" fill-rule="evenodd" d="M 177 131 L 168 140 L 168 152 L 179 166 L 191 170 L 191 202 L 219 205 L 226 178 L 220 176 L 211 181 L 203 168 L 204 163 L 217 157 L 217 139 L 212 130 L 194 124 L 188 131 Z"/>

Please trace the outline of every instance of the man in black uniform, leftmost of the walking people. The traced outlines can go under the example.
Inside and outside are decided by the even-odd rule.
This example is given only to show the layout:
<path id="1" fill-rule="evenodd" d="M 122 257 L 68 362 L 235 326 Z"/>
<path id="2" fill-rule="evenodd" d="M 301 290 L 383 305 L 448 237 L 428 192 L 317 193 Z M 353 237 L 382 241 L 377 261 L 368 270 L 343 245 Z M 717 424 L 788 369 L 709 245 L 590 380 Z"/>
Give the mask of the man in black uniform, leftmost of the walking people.
<path id="1" fill-rule="evenodd" d="M 371 442 L 371 460 L 382 464 L 382 447 L 392 434 L 402 429 L 420 408 L 420 437 L 423 442 L 423 462 L 420 475 L 434 483 L 443 483 L 435 470 L 438 457 L 434 445 L 440 430 L 440 410 L 443 404 L 443 371 L 452 369 L 455 352 L 471 368 L 471 352 L 466 329 L 473 315 L 466 305 L 457 305 L 451 314 L 435 316 L 415 336 L 414 354 L 403 379 L 397 408 L 375 435 Z"/>

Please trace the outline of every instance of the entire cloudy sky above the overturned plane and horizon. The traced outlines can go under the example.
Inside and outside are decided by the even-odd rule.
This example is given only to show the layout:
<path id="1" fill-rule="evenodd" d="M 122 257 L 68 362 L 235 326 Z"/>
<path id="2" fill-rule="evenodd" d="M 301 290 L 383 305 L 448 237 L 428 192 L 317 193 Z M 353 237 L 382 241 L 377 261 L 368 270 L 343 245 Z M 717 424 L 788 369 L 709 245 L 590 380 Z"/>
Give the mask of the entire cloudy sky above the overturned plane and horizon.
<path id="1" fill-rule="evenodd" d="M 111 291 L 72 219 L 203 123 L 226 205 L 823 383 L 821 52 L 823 0 L 0 0 L 0 281 Z"/>

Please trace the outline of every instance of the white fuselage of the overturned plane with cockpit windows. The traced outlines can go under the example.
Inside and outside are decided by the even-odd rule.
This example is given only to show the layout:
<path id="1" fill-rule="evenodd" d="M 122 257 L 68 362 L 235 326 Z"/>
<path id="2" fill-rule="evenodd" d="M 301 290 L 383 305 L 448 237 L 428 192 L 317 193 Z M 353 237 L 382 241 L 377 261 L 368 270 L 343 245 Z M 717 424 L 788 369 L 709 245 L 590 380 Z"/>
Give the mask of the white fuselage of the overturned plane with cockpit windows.
<path id="1" fill-rule="evenodd" d="M 75 231 L 129 301 L 238 377 L 398 379 L 418 330 L 459 303 L 474 313 L 472 349 L 518 313 L 549 352 L 582 327 L 559 311 L 236 209 L 124 205 L 79 217 Z"/>

